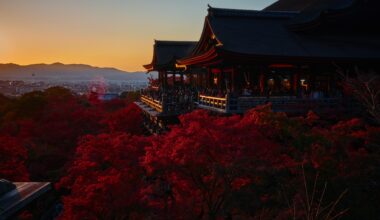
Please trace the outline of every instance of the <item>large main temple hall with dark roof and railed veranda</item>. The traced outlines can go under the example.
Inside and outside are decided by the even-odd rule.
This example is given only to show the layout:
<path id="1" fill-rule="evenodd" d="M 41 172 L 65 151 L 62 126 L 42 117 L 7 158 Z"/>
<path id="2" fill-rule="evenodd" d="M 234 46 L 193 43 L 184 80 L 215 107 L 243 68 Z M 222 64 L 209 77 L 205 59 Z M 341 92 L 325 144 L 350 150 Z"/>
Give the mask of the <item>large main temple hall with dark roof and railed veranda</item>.
<path id="1" fill-rule="evenodd" d="M 213 112 L 240 114 L 265 103 L 289 114 L 353 111 L 357 105 L 337 69 L 379 70 L 379 6 L 375 0 L 279 0 L 261 11 L 209 7 L 190 51 L 175 56 L 170 68 L 154 68 L 155 58 L 145 67 L 159 71 L 166 89 L 165 71 L 186 74 L 197 94 L 194 106 Z"/>

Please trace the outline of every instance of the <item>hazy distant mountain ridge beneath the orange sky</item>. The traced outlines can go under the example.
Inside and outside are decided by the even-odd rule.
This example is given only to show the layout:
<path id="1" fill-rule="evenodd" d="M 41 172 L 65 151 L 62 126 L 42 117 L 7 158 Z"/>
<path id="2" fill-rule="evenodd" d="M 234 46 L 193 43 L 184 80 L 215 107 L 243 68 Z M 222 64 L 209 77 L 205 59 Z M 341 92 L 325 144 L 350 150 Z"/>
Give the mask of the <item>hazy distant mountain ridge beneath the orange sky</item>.
<path id="1" fill-rule="evenodd" d="M 0 64 L 0 80 L 24 81 L 147 81 L 144 72 L 126 72 L 112 67 L 94 67 L 87 64 Z"/>

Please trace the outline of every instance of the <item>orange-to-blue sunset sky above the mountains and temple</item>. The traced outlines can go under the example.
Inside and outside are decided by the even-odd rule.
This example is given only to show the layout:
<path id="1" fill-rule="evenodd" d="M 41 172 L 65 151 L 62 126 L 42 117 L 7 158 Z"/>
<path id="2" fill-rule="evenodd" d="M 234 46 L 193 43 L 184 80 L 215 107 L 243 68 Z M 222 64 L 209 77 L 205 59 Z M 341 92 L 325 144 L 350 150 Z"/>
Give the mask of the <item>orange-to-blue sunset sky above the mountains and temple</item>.
<path id="1" fill-rule="evenodd" d="M 207 4 L 275 0 L 0 0 L 0 63 L 85 63 L 142 70 L 158 40 L 199 40 Z"/>

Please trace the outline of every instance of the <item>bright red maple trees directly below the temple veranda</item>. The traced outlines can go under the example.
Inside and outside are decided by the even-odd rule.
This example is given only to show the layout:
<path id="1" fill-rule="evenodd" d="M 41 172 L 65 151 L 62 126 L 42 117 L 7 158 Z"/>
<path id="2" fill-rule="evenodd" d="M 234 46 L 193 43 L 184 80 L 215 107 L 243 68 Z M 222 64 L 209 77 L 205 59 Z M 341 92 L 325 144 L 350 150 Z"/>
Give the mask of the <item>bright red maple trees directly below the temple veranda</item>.
<path id="1" fill-rule="evenodd" d="M 231 117 L 197 110 L 180 121 L 158 136 L 85 138 L 58 184 L 68 190 L 63 218 L 376 218 L 368 201 L 379 195 L 379 129 L 360 119 L 289 118 L 262 106 Z M 306 208 L 312 193 L 319 197 Z"/>

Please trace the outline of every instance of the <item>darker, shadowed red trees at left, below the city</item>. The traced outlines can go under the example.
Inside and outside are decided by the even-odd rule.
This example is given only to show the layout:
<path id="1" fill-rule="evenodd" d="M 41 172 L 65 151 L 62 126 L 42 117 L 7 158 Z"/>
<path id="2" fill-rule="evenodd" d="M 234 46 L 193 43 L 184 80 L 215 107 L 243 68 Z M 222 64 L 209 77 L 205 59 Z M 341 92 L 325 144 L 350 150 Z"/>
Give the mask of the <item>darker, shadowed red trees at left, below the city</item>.
<path id="1" fill-rule="evenodd" d="M 82 136 L 114 132 L 121 129 L 122 123 L 126 125 L 125 131 L 141 130 L 139 111 L 130 100 L 94 104 L 68 89 L 53 87 L 16 99 L 3 98 L 0 102 L 0 136 L 8 137 L 8 142 L 1 141 L 4 147 L 0 150 L 9 151 L 1 156 L 15 163 L 22 161 L 19 164 L 28 168 L 23 173 L 34 181 L 58 181 L 66 173 Z M 128 114 L 121 116 L 122 113 Z M 10 141 L 12 138 L 17 144 Z"/>

